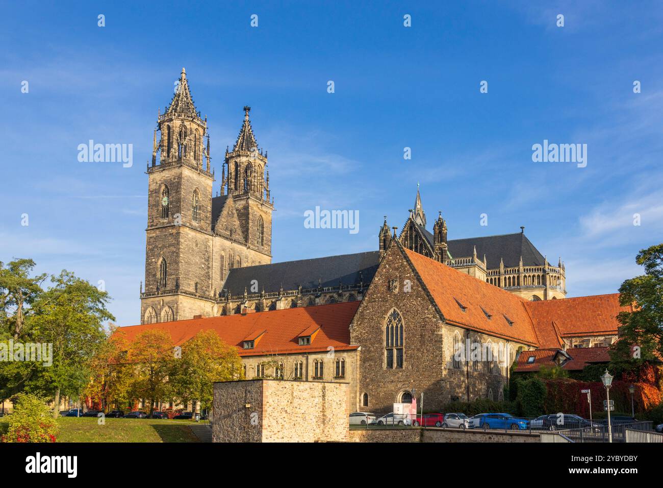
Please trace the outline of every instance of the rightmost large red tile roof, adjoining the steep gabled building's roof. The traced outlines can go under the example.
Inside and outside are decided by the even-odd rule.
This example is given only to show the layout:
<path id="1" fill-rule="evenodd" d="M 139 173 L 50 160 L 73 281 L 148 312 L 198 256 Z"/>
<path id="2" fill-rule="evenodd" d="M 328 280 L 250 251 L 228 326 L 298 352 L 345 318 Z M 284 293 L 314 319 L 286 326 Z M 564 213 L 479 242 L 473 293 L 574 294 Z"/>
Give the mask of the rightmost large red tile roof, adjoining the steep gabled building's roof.
<path id="1" fill-rule="evenodd" d="M 633 311 L 619 305 L 619 293 L 558 300 L 528 301 L 541 347 L 560 347 L 559 337 L 617 335 L 617 314 Z"/>

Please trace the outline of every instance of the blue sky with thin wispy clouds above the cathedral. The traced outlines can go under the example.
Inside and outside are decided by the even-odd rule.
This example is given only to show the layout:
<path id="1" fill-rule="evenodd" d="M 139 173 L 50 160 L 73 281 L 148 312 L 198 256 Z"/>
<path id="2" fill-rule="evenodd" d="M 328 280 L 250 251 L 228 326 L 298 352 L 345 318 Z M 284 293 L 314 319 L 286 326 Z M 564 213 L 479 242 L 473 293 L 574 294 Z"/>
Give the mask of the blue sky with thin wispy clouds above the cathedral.
<path id="1" fill-rule="evenodd" d="M 3 6 L 0 261 L 104 280 L 117 323 L 139 323 L 145 164 L 182 66 L 217 175 L 252 107 L 274 261 L 377 249 L 383 216 L 402 226 L 417 183 L 450 239 L 526 226 L 566 262 L 569 296 L 616 291 L 640 274 L 638 250 L 661 242 L 660 3 L 224 4 Z M 133 144 L 133 166 L 80 163 L 89 139 Z M 544 139 L 587 144 L 587 167 L 532 162 Z M 359 210 L 359 232 L 304 228 L 316 205 Z"/>

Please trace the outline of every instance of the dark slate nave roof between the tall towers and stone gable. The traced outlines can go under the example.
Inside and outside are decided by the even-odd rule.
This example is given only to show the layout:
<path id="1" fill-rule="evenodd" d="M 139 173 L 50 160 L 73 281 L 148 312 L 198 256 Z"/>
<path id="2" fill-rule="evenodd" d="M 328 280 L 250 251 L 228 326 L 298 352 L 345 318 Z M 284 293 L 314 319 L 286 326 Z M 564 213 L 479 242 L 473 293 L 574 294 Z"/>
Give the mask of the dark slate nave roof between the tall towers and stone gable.
<path id="1" fill-rule="evenodd" d="M 286 261 L 230 270 L 223 284 L 233 295 L 243 295 L 245 289 L 251 289 L 251 281 L 257 280 L 258 291 L 270 293 L 320 286 L 365 285 L 371 283 L 380 261 L 380 252 L 358 252 L 341 254 L 325 258 Z"/>

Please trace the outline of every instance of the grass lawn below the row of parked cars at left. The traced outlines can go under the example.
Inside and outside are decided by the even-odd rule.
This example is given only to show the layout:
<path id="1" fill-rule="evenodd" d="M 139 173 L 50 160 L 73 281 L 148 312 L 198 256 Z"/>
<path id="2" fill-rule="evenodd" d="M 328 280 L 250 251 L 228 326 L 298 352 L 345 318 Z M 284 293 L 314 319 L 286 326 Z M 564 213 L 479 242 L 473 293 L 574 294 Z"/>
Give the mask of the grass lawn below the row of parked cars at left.
<path id="1" fill-rule="evenodd" d="M 200 442 L 190 420 L 107 418 L 100 426 L 93 417 L 62 417 L 58 424 L 58 442 Z M 7 418 L 0 418 L 0 434 L 5 432 Z"/>

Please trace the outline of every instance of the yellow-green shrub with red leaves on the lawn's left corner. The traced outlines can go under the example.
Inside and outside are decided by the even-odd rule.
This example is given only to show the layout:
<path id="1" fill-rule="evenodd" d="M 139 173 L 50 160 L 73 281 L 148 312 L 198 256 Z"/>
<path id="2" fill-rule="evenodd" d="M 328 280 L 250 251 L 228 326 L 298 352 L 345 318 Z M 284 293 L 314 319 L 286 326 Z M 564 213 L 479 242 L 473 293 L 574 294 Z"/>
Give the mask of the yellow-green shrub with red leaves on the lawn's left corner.
<path id="1" fill-rule="evenodd" d="M 58 424 L 46 402 L 33 394 L 15 396 L 14 411 L 9 416 L 9 429 L 2 442 L 55 442 Z"/>

